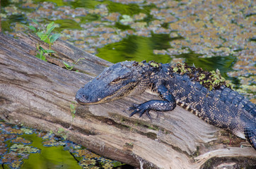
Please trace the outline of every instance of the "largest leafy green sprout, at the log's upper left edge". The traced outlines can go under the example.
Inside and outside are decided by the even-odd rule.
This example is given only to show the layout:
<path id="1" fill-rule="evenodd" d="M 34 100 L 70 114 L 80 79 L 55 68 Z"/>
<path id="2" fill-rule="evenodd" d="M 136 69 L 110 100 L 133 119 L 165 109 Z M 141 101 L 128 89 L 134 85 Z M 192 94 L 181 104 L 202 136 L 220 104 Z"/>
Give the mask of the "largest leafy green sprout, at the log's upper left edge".
<path id="1" fill-rule="evenodd" d="M 33 23 L 35 23 L 38 28 L 35 28 L 32 25 L 25 25 L 25 27 L 30 28 L 30 30 L 33 30 L 34 32 L 36 32 L 37 37 L 40 38 L 40 40 L 42 40 L 43 42 L 49 44 L 49 49 L 43 49 L 42 46 L 37 45 L 37 51 L 39 53 L 37 53 L 37 58 L 42 59 L 43 61 L 46 61 L 46 58 L 44 56 L 44 54 L 50 54 L 50 56 L 52 56 L 52 53 L 55 53 L 55 51 L 53 51 L 51 49 L 52 44 L 59 38 L 60 34 L 52 34 L 52 30 L 54 30 L 54 28 L 56 27 L 56 25 L 54 25 L 54 22 L 50 23 L 47 25 L 46 30 L 42 27 L 42 25 L 40 25 L 40 23 L 37 22 L 37 20 L 31 19 L 30 20 L 33 21 Z"/>

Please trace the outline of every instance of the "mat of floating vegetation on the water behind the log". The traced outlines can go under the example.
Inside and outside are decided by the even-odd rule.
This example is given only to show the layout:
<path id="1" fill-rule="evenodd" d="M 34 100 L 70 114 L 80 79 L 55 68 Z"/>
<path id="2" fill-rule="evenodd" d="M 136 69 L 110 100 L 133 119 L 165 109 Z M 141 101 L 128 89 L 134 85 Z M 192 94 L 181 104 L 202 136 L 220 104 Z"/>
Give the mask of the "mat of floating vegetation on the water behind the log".
<path id="1" fill-rule="evenodd" d="M 59 30 L 64 33 L 63 39 L 70 40 L 86 50 L 94 49 L 95 52 L 96 48 L 103 47 L 102 44 L 119 42 L 122 37 L 126 36 L 122 36 L 119 41 L 110 37 L 110 41 L 100 43 L 99 41 L 107 40 L 100 39 L 103 32 L 92 35 L 94 31 L 90 31 L 88 28 L 101 27 L 107 29 L 111 26 L 116 30 L 111 32 L 112 35 L 129 35 L 126 30 L 115 27 L 118 24 L 132 25 L 129 30 L 136 29 L 132 32 L 132 35 L 151 36 L 151 32 L 154 34 L 170 34 L 171 31 L 177 31 L 178 37 L 184 37 L 184 39 L 178 40 L 179 43 L 170 41 L 170 45 L 180 51 L 184 44 L 188 44 L 192 51 L 203 54 L 202 57 L 228 56 L 230 54 L 238 56 L 240 50 L 255 48 L 255 41 L 250 40 L 254 39 L 252 33 L 254 27 L 252 1 L 243 1 L 239 6 L 235 4 L 235 1 L 228 3 L 226 1 L 204 2 L 195 0 L 151 0 L 146 3 L 133 0 L 90 1 L 86 5 L 62 3 L 60 5 L 45 1 L 33 4 L 31 1 L 24 0 L 18 6 L 17 3 L 16 6 L 14 4 L 5 6 L 1 16 L 4 21 L 14 15 L 25 15 L 27 18 L 34 18 L 40 22 L 43 19 L 62 20 L 59 22 Z M 34 7 L 37 10 L 31 10 Z M 76 20 L 76 23 L 81 26 L 65 25 L 67 20 Z M 11 29 L 15 30 L 16 22 L 19 20 L 13 21 Z M 86 25 L 86 27 L 83 25 Z M 82 38 L 74 37 L 74 35 L 77 35 L 76 30 L 81 30 L 81 27 L 88 31 L 80 33 Z M 66 34 L 66 30 L 69 30 L 68 34 Z M 149 33 L 144 35 L 142 32 Z M 86 42 L 85 39 L 92 36 L 97 38 L 98 44 Z M 170 36 L 177 37 L 174 34 Z M 75 43 L 75 41 L 81 39 L 83 43 Z"/>

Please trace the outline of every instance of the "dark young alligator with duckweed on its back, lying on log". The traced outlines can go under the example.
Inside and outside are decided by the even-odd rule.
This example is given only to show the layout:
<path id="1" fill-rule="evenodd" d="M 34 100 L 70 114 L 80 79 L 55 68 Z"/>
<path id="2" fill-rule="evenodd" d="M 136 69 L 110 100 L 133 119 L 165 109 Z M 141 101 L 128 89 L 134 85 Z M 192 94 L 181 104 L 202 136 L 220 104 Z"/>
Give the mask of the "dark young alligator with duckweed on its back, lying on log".
<path id="1" fill-rule="evenodd" d="M 78 104 L 102 104 L 145 90 L 161 100 L 133 104 L 129 108 L 139 117 L 149 111 L 185 108 L 211 125 L 247 139 L 256 150 L 256 107 L 245 96 L 228 87 L 220 74 L 187 64 L 124 61 L 105 68 L 76 93 Z"/>

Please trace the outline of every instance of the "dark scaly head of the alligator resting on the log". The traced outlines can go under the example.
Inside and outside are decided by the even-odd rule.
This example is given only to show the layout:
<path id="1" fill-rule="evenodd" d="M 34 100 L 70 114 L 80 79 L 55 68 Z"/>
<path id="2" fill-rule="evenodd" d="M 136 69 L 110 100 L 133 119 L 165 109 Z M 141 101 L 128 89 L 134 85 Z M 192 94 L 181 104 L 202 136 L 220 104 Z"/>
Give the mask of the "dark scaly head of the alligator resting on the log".
<path id="1" fill-rule="evenodd" d="M 102 104 L 128 94 L 144 92 L 149 84 L 149 65 L 146 62 L 124 61 L 105 68 L 76 93 L 79 104 Z"/>

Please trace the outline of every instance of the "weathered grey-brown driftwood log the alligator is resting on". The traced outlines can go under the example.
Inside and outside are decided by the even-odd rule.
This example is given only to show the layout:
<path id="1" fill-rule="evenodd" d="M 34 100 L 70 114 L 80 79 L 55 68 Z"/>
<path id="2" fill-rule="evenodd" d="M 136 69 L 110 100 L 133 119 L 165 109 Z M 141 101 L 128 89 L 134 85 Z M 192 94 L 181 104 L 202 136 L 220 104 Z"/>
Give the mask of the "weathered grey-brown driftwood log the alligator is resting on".
<path id="1" fill-rule="evenodd" d="M 78 106 L 72 122 L 69 104 L 76 91 L 112 65 L 58 40 L 52 49 L 57 57 L 47 63 L 35 58 L 32 35 L 18 39 L 0 34 L 0 117 L 57 133 L 64 128 L 68 139 L 108 158 L 144 168 L 200 168 L 209 159 L 215 165 L 256 165 L 251 147 L 226 147 L 221 132 L 179 106 L 175 111 L 151 112 L 129 118 L 132 103 L 156 99 L 151 94 L 129 96 L 107 104 Z M 62 61 L 74 63 L 76 71 L 66 70 Z M 219 140 L 218 140 L 219 139 Z M 240 160 L 238 160 L 240 159 Z M 214 165 L 209 163 L 209 165 Z"/>

